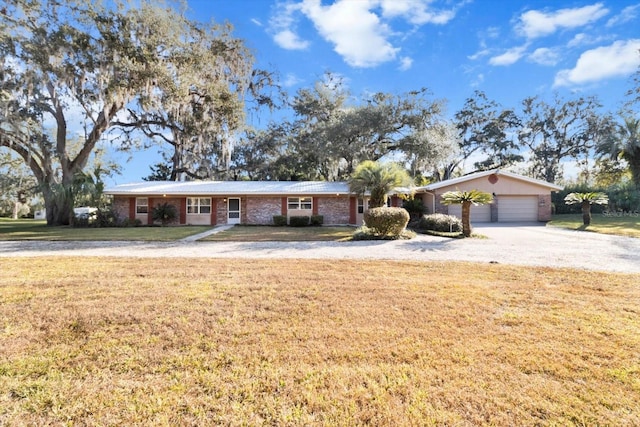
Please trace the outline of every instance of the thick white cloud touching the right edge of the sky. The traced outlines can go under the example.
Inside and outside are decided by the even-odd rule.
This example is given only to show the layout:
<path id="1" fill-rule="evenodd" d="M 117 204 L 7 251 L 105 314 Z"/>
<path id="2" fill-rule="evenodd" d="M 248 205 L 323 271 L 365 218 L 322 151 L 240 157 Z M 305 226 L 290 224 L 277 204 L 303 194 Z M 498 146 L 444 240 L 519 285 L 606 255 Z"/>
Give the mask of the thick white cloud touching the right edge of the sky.
<path id="1" fill-rule="evenodd" d="M 573 69 L 556 74 L 554 86 L 594 83 L 611 77 L 628 76 L 640 65 L 640 39 L 618 40 L 609 46 L 584 52 Z"/>

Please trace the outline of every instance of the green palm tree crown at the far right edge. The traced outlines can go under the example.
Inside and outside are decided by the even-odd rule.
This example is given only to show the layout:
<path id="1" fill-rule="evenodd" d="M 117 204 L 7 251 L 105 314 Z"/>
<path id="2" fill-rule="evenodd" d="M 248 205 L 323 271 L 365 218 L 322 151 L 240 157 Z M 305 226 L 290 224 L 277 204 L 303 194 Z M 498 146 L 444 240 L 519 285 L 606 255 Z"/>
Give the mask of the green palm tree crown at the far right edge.
<path id="1" fill-rule="evenodd" d="M 633 183 L 640 189 L 640 118 L 624 117 L 624 124 L 616 124 L 597 147 L 598 153 L 613 160 L 625 160 Z"/>

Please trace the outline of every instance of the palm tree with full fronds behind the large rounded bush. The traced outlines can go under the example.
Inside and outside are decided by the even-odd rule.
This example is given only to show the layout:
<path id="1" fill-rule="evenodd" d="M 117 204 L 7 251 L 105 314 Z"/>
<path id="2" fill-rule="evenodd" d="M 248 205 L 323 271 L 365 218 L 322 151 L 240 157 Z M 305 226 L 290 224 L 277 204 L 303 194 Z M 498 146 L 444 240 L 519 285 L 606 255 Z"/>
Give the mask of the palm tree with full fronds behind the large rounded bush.
<path id="1" fill-rule="evenodd" d="M 351 175 L 349 188 L 356 194 L 369 192 L 369 207 L 379 208 L 387 203 L 387 194 L 394 188 L 409 187 L 412 183 L 407 171 L 397 163 L 365 160 Z"/>

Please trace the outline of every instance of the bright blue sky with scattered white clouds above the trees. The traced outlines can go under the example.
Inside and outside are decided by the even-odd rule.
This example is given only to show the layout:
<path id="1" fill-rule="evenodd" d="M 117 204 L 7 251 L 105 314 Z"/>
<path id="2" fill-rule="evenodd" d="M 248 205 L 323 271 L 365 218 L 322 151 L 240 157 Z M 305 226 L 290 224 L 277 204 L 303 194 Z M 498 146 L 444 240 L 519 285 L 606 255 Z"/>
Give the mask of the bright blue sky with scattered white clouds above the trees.
<path id="1" fill-rule="evenodd" d="M 426 87 L 447 116 L 474 90 L 504 107 L 528 96 L 597 95 L 616 111 L 640 65 L 640 2 L 188 0 L 187 15 L 230 22 L 257 66 L 290 93 L 325 71 L 352 94 Z M 265 114 L 254 118 L 266 124 Z M 149 163 L 157 161 L 148 153 Z M 119 183 L 149 169 L 124 165 Z"/>

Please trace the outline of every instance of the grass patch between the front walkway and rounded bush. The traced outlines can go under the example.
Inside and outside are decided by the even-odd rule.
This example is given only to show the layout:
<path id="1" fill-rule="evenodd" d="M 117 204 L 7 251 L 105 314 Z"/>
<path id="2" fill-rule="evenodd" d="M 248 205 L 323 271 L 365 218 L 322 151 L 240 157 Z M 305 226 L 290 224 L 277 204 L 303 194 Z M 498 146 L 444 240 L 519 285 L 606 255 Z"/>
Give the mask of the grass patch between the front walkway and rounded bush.
<path id="1" fill-rule="evenodd" d="M 304 242 L 343 241 L 353 236 L 353 227 L 275 227 L 267 225 L 236 225 L 205 237 L 202 241 L 235 242 Z"/>

